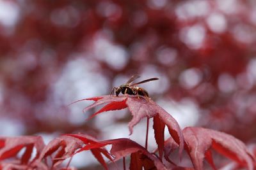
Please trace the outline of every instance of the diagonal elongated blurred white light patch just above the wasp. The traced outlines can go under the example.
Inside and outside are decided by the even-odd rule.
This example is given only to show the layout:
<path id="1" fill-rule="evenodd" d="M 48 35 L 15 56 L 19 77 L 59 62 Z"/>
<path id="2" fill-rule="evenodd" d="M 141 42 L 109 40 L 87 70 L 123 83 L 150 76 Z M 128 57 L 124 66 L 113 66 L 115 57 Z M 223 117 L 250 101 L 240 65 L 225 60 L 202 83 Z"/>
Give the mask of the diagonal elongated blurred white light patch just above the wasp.
<path id="1" fill-rule="evenodd" d="M 100 34 L 95 36 L 93 52 L 95 57 L 116 70 L 124 68 L 128 61 L 128 53 L 124 46 L 115 45 Z"/>

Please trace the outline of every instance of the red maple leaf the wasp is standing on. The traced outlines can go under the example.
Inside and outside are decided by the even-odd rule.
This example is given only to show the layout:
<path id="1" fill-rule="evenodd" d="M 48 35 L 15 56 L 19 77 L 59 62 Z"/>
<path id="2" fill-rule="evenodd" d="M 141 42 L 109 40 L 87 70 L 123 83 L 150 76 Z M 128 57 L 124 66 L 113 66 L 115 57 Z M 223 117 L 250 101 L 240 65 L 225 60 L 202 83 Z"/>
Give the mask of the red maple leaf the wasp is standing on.
<path id="1" fill-rule="evenodd" d="M 167 113 L 163 108 L 154 103 L 154 101 L 152 101 L 151 99 L 145 97 L 138 98 L 136 96 L 100 96 L 83 100 L 95 101 L 95 103 L 84 108 L 84 112 L 101 104 L 106 104 L 103 108 L 94 113 L 90 118 L 95 117 L 95 115 L 98 115 L 99 113 L 102 113 L 104 111 L 122 110 L 124 108 L 129 108 L 129 111 L 131 111 L 132 114 L 132 120 L 128 124 L 130 134 L 132 134 L 132 129 L 134 125 L 138 124 L 142 118 L 154 118 L 155 139 L 158 146 L 160 159 L 162 159 L 163 157 L 165 125 L 168 127 L 168 131 L 172 138 L 175 140 L 176 143 L 179 144 L 179 153 L 181 154 L 184 147 L 184 141 L 179 124 L 169 113 Z"/>

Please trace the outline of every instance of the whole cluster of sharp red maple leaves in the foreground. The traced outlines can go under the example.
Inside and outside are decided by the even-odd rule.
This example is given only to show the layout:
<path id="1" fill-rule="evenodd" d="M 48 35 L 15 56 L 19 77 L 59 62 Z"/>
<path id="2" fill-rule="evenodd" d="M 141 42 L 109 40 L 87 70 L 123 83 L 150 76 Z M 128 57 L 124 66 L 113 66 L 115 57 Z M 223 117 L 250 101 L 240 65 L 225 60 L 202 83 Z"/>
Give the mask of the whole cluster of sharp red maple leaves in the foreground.
<path id="1" fill-rule="evenodd" d="M 138 124 L 142 118 L 153 118 L 158 154 L 148 152 L 144 146 L 126 138 L 97 141 L 84 134 L 66 134 L 53 139 L 48 145 L 44 145 L 42 138 L 38 136 L 0 138 L 1 169 L 59 169 L 63 160 L 86 150 L 90 150 L 105 169 L 108 169 L 108 166 L 104 157 L 115 162 L 129 155 L 130 169 L 204 169 L 204 159 L 209 162 L 212 169 L 217 169 L 211 150 L 216 150 L 221 155 L 234 160 L 237 167 L 247 169 L 256 167 L 255 155 L 248 152 L 239 139 L 223 132 L 200 127 L 186 127 L 181 130 L 176 120 L 150 99 L 132 96 L 101 96 L 84 100 L 95 101 L 84 111 L 106 104 L 91 118 L 104 111 L 129 108 L 132 114 L 132 120 L 128 125 L 131 134 L 134 125 Z M 170 133 L 168 139 L 164 139 L 165 127 Z M 104 148 L 106 145 L 112 146 L 110 151 Z M 33 148 L 36 150 L 36 155 L 32 157 Z M 193 167 L 179 167 L 170 160 L 170 155 L 176 148 L 179 148 L 180 156 L 182 150 L 186 150 Z M 19 155 L 22 149 L 24 152 Z M 69 164 L 63 169 L 70 169 L 68 166 Z"/>

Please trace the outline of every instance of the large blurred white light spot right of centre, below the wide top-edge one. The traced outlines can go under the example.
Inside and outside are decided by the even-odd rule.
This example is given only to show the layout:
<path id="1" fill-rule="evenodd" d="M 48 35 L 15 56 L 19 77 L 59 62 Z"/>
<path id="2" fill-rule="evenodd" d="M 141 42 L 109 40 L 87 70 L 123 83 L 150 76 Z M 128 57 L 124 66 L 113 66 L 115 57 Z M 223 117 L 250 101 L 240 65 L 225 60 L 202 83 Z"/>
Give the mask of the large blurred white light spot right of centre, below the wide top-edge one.
<path id="1" fill-rule="evenodd" d="M 198 49 L 204 43 L 205 28 L 200 24 L 184 27 L 179 33 L 180 39 L 186 43 L 189 48 Z"/>

